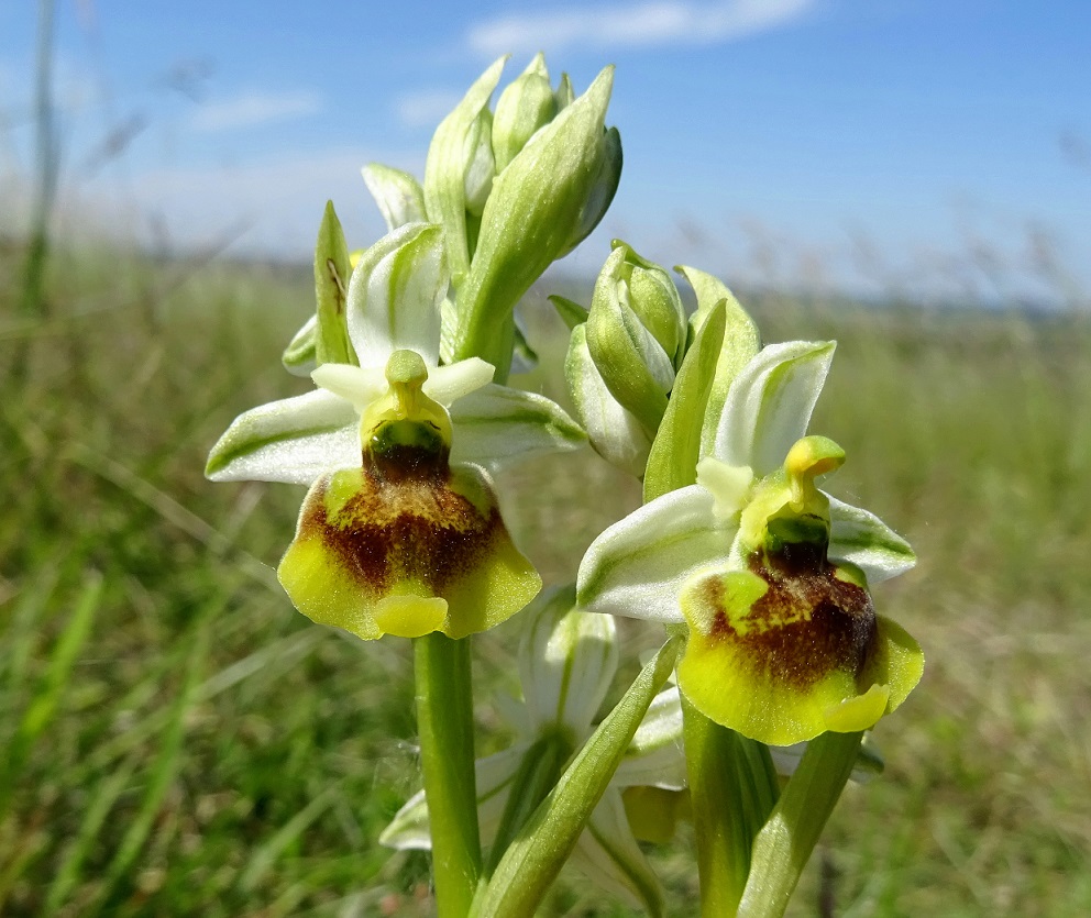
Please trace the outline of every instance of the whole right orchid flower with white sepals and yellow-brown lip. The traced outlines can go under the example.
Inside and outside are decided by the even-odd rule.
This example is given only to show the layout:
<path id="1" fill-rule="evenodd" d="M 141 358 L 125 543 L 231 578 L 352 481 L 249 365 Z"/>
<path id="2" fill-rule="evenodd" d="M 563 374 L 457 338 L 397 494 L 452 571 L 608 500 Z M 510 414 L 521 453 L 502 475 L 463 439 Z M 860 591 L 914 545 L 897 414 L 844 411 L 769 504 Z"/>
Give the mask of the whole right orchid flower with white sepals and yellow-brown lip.
<path id="1" fill-rule="evenodd" d="M 773 745 L 872 727 L 924 666 L 868 591 L 912 567 L 912 550 L 815 485 L 844 462 L 806 436 L 833 353 L 831 342 L 758 353 L 731 384 L 696 484 L 607 529 L 577 580 L 584 609 L 685 626 L 682 693 Z"/>

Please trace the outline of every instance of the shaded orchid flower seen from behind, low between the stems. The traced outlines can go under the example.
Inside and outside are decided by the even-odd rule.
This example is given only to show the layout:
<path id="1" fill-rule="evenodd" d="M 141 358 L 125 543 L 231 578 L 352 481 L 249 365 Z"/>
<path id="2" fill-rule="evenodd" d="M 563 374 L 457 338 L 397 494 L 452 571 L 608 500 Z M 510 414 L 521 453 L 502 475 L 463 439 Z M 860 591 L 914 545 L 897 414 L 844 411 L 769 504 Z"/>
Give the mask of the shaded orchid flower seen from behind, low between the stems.
<path id="1" fill-rule="evenodd" d="M 617 671 L 614 620 L 577 611 L 574 604 L 575 590 L 570 587 L 541 597 L 528 610 L 519 649 L 524 701 L 511 700 L 507 711 L 520 739 L 477 762 L 478 820 L 484 839 L 500 839 L 494 847 L 510 841 L 518 830 L 511 815 L 526 812 L 521 798 L 535 786 L 528 774 L 548 763 L 555 779 L 572 752 L 591 734 L 595 714 Z M 671 797 L 679 795 L 637 794 L 630 799 L 627 792 L 679 792 L 684 787 L 682 709 L 677 689 L 671 687 L 652 701 L 570 863 L 630 904 L 662 914 L 659 881 L 637 844 L 627 812 L 647 810 L 642 804 L 670 808 L 674 803 Z M 548 789 L 542 788 L 540 796 Z M 536 804 L 531 798 L 530 808 Z M 662 818 L 655 817 L 662 815 L 655 812 L 649 819 L 647 811 L 639 814 L 644 825 L 661 823 Z M 669 820 L 671 814 L 665 816 Z M 397 849 L 430 847 L 423 792 L 398 811 L 379 841 Z"/>

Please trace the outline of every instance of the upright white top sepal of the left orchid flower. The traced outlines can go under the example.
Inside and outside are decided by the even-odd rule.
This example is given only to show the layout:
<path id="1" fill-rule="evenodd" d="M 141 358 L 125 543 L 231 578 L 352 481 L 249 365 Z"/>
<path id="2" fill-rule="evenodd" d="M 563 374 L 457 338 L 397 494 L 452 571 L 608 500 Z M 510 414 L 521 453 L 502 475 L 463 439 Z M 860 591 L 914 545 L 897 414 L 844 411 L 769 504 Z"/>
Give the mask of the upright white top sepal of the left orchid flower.
<path id="1" fill-rule="evenodd" d="M 407 223 L 367 248 L 349 281 L 349 338 L 361 366 L 385 367 L 403 347 L 436 366 L 448 280 L 442 231 L 431 223 Z"/>

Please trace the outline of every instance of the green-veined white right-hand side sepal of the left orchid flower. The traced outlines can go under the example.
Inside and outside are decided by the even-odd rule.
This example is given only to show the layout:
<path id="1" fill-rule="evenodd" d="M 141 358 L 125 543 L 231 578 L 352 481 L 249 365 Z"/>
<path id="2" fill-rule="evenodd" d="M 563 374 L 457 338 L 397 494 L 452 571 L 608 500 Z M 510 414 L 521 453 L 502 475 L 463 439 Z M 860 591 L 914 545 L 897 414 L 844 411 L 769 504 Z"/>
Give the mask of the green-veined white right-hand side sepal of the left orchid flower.
<path id="1" fill-rule="evenodd" d="M 459 399 L 451 406 L 451 461 L 489 469 L 530 456 L 577 450 L 587 442 L 583 429 L 559 405 L 507 386 L 491 384 Z"/>

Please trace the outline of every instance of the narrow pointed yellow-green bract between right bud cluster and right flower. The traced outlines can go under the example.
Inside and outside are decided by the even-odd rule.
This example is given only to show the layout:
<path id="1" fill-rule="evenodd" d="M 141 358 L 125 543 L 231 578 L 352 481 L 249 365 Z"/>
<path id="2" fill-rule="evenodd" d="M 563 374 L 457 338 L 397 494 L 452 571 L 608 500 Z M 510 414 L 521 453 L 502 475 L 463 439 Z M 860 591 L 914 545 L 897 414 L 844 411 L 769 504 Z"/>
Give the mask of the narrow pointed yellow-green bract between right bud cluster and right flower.
<path id="1" fill-rule="evenodd" d="M 725 307 L 709 310 L 686 352 L 671 400 L 652 442 L 644 473 L 644 502 L 692 485 L 702 454 L 702 430 L 724 342 Z"/>

